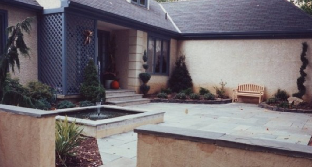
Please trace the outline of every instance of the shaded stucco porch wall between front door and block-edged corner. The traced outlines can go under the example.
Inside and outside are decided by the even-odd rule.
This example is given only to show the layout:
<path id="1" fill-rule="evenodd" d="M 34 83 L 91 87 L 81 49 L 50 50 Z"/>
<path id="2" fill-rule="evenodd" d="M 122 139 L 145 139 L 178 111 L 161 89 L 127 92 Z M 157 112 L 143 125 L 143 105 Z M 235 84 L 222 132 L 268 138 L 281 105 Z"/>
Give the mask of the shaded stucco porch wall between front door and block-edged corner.
<path id="1" fill-rule="evenodd" d="M 116 69 L 121 89 L 128 89 L 129 71 L 129 30 L 117 30 L 116 34 Z"/>

